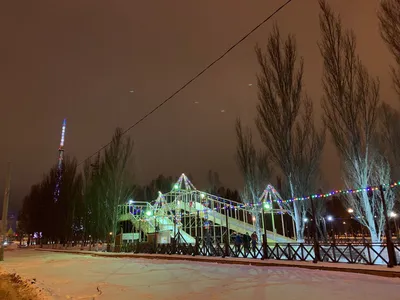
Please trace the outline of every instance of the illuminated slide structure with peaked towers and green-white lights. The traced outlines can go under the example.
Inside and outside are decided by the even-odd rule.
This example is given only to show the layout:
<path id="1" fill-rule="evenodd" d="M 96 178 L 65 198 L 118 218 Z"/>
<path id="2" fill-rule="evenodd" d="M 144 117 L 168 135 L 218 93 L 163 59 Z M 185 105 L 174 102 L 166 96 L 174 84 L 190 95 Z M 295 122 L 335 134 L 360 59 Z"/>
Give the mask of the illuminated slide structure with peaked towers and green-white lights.
<path id="1" fill-rule="evenodd" d="M 227 233 L 229 236 L 235 233 L 251 235 L 257 230 L 255 215 L 258 214 L 261 233 L 267 234 L 268 243 L 293 243 L 295 240 L 285 236 L 283 215 L 286 211 L 280 206 L 273 209 L 272 201 L 277 199 L 276 194 L 275 189 L 268 185 L 259 203 L 239 203 L 197 190 L 182 174 L 170 192 L 159 192 L 158 198 L 151 203 L 130 200 L 119 205 L 117 218 L 120 224 L 132 223 L 132 231 L 140 236 L 137 238 L 139 241 L 148 234 L 168 232 L 170 237 L 179 233 L 181 242 L 194 244 L 196 238 L 223 243 Z M 275 228 L 279 217 L 282 234 L 278 234 Z M 264 226 L 273 230 L 265 230 Z"/>

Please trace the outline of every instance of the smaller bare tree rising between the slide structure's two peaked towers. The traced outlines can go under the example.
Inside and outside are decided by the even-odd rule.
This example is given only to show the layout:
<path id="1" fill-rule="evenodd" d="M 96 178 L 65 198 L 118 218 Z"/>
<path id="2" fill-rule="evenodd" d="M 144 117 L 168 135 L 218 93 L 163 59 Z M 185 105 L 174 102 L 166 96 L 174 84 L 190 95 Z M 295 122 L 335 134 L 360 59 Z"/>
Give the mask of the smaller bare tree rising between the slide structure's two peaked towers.
<path id="1" fill-rule="evenodd" d="M 258 200 L 268 184 L 271 168 L 265 153 L 257 153 L 253 144 L 253 135 L 250 128 L 243 129 L 242 123 L 236 120 L 236 162 L 242 173 L 244 188 L 241 198 L 244 203 L 251 204 L 250 212 L 255 219 L 258 236 L 261 236 L 261 218 Z"/>

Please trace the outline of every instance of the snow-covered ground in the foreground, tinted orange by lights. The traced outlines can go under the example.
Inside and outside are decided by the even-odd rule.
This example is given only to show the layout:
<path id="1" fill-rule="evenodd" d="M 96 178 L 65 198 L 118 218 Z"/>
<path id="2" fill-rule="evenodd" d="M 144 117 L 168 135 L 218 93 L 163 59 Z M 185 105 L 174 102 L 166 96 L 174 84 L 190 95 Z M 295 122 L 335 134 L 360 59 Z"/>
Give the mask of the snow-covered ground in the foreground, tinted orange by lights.
<path id="1" fill-rule="evenodd" d="M 16 250 L 0 268 L 55 299 L 400 299 L 400 279 L 287 267 Z"/>

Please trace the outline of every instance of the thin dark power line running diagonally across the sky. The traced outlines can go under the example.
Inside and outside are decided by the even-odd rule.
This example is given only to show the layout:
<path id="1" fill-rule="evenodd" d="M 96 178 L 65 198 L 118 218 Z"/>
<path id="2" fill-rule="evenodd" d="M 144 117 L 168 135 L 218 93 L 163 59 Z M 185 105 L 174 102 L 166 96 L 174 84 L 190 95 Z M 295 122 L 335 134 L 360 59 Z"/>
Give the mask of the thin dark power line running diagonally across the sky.
<path id="1" fill-rule="evenodd" d="M 283 3 L 281 6 L 279 6 L 275 11 L 273 11 L 267 18 L 265 18 L 261 23 L 259 23 L 256 27 L 254 27 L 252 30 L 250 30 L 248 33 L 246 33 L 241 39 L 239 39 L 236 43 L 234 43 L 231 47 L 228 48 L 222 55 L 220 55 L 217 59 L 215 59 L 213 62 L 211 62 L 209 65 L 207 65 L 203 70 L 201 70 L 197 75 L 192 77 L 189 81 L 187 81 L 184 85 L 182 85 L 178 90 L 176 90 L 174 93 L 172 93 L 168 98 L 166 98 L 164 101 L 162 101 L 160 104 L 158 104 L 156 107 L 154 107 L 151 111 L 149 111 L 147 114 L 145 114 L 142 118 L 140 118 L 138 121 L 136 121 L 134 124 L 129 126 L 127 129 L 125 129 L 122 132 L 122 135 L 130 131 L 132 128 L 136 127 L 140 123 L 142 123 L 144 120 L 146 120 L 150 115 L 155 113 L 158 109 L 160 109 L 162 106 L 164 106 L 168 101 L 170 101 L 172 98 L 174 98 L 176 95 L 178 95 L 181 91 L 183 91 L 188 85 L 190 85 L 192 82 L 194 82 L 197 78 L 199 78 L 201 75 L 203 75 L 208 69 L 210 69 L 213 65 L 215 65 L 217 62 L 219 62 L 221 59 L 223 59 L 229 52 L 231 52 L 233 49 L 235 49 L 239 44 L 241 44 L 244 40 L 246 40 L 252 33 L 254 33 L 258 28 L 263 26 L 266 22 L 268 22 L 272 17 L 274 17 L 279 11 L 281 11 L 283 8 L 285 8 L 290 2 L 293 0 L 287 0 L 285 3 Z M 86 160 L 92 158 L 95 156 L 97 153 L 99 153 L 101 150 L 106 148 L 111 144 L 111 141 L 102 146 L 99 150 L 94 152 L 92 155 L 86 157 L 83 161 L 81 161 L 79 165 L 84 163 Z"/>

